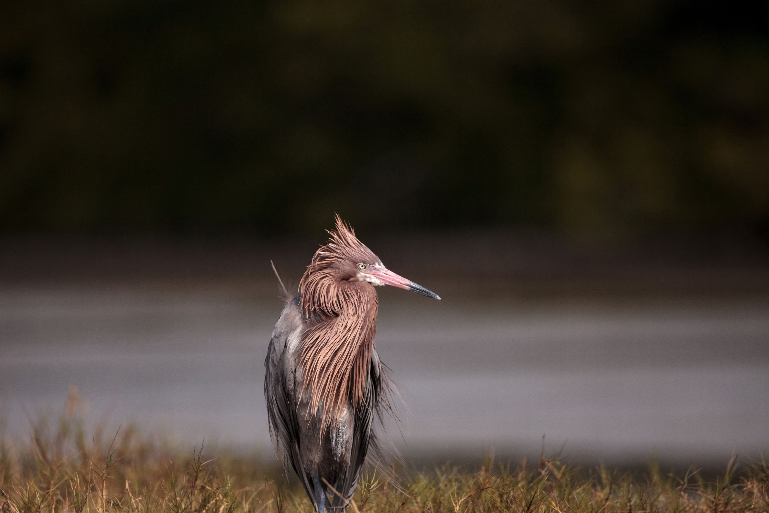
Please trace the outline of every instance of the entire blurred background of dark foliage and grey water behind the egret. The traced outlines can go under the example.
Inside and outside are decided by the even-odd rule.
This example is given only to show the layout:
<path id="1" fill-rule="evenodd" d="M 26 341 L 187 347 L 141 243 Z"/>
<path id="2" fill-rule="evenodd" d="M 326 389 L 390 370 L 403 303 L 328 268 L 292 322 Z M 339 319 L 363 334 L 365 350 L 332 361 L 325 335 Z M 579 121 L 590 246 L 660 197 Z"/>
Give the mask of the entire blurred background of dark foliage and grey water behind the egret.
<path id="1" fill-rule="evenodd" d="M 766 2 L 6 2 L 0 393 L 271 457 L 339 212 L 406 458 L 769 448 Z M 101 419 L 101 420 L 99 420 Z"/>

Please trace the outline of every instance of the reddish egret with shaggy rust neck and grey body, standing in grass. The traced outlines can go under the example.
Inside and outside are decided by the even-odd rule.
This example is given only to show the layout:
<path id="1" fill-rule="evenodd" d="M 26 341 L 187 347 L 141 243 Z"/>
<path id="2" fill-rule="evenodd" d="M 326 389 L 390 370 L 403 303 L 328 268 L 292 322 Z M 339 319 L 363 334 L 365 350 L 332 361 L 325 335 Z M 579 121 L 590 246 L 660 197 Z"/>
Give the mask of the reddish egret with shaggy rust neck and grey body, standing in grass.
<path id="1" fill-rule="evenodd" d="M 367 455 L 377 449 L 376 418 L 392 411 L 388 368 L 375 348 L 378 294 L 391 285 L 440 296 L 384 266 L 335 215 L 295 295 L 284 292 L 265 358 L 265 401 L 276 455 L 292 468 L 315 511 L 348 507 Z"/>

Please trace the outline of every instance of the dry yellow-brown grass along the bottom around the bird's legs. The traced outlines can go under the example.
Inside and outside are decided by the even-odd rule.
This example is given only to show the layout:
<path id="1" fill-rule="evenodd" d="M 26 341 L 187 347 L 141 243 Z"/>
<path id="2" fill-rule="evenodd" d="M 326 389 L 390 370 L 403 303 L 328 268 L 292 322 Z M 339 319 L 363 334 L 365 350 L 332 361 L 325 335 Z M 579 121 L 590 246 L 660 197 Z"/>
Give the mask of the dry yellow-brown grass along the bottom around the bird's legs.
<path id="1" fill-rule="evenodd" d="M 35 422 L 24 443 L 2 440 L 0 513 L 250 513 L 312 511 L 275 466 L 200 448 L 175 451 L 131 428 L 86 435 L 72 411 Z M 733 460 L 718 478 L 697 471 L 639 475 L 581 469 L 557 458 L 470 470 L 401 473 L 398 487 L 370 475 L 351 511 L 623 513 L 769 511 L 769 465 Z"/>

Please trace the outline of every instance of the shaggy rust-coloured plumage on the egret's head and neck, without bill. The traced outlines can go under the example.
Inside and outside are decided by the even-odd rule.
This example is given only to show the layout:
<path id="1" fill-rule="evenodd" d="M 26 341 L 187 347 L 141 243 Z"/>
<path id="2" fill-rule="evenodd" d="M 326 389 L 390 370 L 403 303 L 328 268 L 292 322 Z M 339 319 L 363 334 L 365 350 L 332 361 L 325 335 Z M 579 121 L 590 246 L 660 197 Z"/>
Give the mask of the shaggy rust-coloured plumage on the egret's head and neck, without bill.
<path id="1" fill-rule="evenodd" d="M 349 401 L 363 403 L 378 309 L 374 287 L 355 275 L 359 262 L 379 259 L 339 216 L 328 233 L 299 283 L 301 308 L 311 321 L 299 353 L 301 395 L 310 401 L 309 411 L 322 406 L 323 425 Z"/>

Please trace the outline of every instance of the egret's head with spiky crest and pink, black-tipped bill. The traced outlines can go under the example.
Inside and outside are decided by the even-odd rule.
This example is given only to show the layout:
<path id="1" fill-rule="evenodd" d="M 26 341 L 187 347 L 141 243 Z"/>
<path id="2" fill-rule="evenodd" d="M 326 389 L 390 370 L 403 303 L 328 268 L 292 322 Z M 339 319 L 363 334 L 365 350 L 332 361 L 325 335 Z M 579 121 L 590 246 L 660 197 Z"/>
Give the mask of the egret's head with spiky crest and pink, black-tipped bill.
<path id="1" fill-rule="evenodd" d="M 321 281 L 362 281 L 375 287 L 391 285 L 440 299 L 434 292 L 384 267 L 381 259 L 355 237 L 355 231 L 339 215 L 336 228 L 328 230 L 328 234 L 331 238 L 315 252 L 301 278 L 302 291 L 317 288 Z"/>

